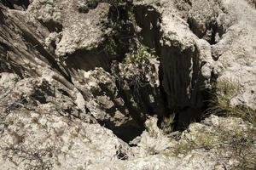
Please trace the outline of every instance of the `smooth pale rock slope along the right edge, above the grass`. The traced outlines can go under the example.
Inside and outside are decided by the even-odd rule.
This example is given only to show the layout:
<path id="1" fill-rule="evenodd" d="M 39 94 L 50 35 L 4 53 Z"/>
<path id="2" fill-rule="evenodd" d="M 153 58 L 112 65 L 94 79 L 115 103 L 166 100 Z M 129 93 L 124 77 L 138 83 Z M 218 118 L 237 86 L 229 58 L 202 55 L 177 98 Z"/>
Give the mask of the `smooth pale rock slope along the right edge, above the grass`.
<path id="1" fill-rule="evenodd" d="M 256 108 L 256 14 L 255 8 L 245 1 L 224 1 L 235 21 L 226 31 L 224 37 L 212 46 L 213 51 L 218 51 L 219 61 L 223 71 L 219 79 L 238 82 L 241 93 L 232 101 L 233 105 L 247 105 Z"/>

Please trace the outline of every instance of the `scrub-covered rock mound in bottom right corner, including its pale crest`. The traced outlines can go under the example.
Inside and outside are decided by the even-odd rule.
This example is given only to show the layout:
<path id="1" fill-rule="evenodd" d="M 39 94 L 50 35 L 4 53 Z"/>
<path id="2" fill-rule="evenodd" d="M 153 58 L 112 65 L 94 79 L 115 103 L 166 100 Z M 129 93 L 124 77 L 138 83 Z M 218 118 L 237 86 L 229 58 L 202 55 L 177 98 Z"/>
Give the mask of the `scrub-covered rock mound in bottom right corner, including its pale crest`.
<path id="1" fill-rule="evenodd" d="M 214 153 L 218 161 L 236 161 L 232 168 L 255 169 L 255 127 L 236 117 L 210 116 L 201 123 L 192 123 L 181 139 L 168 150 L 166 156 L 188 156 L 195 150 Z M 224 163 L 225 162 L 225 163 Z M 227 165 L 230 166 L 230 165 Z"/>

